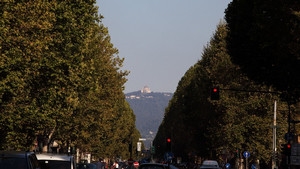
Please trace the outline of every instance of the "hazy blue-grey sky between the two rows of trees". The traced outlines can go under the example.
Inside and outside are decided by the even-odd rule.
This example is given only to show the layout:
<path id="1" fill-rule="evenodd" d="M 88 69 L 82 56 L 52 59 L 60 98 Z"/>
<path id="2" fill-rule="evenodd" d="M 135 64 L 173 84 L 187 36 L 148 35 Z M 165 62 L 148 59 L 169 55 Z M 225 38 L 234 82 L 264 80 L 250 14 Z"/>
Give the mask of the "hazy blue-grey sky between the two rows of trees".
<path id="1" fill-rule="evenodd" d="M 145 85 L 175 92 L 224 19 L 231 0 L 97 0 L 111 41 L 130 71 L 125 93 Z"/>

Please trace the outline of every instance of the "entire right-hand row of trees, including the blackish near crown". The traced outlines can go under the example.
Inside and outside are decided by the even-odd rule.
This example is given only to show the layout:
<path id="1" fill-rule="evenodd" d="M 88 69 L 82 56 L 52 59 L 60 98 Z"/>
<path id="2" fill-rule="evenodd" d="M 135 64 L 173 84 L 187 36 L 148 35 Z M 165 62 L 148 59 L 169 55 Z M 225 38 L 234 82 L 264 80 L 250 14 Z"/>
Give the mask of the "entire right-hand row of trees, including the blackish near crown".
<path id="1" fill-rule="evenodd" d="M 250 162 L 270 165 L 274 101 L 277 107 L 277 150 L 288 131 L 288 105 L 295 117 L 299 101 L 299 1 L 233 0 L 205 47 L 201 60 L 178 83 L 154 140 L 157 155 L 172 138 L 172 152 L 230 161 L 249 151 Z M 233 61 L 233 62 L 232 62 Z M 221 90 L 210 99 L 210 87 Z M 299 124 L 291 132 L 299 134 Z M 297 133 L 298 132 L 298 133 Z M 241 154 L 239 154 L 241 156 Z"/>

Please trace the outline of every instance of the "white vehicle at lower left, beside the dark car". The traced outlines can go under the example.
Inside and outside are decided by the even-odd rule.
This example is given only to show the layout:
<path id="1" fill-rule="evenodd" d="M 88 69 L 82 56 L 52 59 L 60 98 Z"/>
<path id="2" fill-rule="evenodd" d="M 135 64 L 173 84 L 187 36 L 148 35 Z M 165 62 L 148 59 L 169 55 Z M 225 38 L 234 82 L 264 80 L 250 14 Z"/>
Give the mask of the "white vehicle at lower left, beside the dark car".
<path id="1" fill-rule="evenodd" d="M 42 169 L 76 169 L 73 156 L 64 154 L 36 154 Z"/>

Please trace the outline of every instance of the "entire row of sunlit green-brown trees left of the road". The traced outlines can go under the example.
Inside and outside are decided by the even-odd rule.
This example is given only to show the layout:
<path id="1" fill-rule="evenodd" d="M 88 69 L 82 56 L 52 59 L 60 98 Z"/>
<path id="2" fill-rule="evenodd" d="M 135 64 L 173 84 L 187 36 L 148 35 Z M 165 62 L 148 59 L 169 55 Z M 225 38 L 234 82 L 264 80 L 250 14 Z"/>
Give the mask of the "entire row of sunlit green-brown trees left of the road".
<path id="1" fill-rule="evenodd" d="M 140 134 L 123 94 L 128 72 L 95 0 L 3 1 L 0 15 L 0 149 L 58 140 L 129 156 Z"/>

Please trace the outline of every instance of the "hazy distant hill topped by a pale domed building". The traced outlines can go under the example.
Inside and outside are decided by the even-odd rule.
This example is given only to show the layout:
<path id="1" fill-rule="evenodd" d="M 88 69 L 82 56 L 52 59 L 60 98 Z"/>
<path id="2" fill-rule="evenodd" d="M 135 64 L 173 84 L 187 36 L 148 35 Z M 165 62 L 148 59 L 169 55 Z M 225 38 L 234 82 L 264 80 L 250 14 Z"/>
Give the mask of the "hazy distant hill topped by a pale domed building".
<path id="1" fill-rule="evenodd" d="M 127 93 L 125 96 L 136 116 L 137 129 L 142 137 L 147 139 L 144 144 L 148 148 L 163 120 L 165 108 L 173 93 L 155 93 L 149 88 L 146 89 Z"/>

